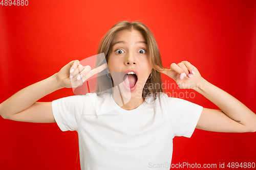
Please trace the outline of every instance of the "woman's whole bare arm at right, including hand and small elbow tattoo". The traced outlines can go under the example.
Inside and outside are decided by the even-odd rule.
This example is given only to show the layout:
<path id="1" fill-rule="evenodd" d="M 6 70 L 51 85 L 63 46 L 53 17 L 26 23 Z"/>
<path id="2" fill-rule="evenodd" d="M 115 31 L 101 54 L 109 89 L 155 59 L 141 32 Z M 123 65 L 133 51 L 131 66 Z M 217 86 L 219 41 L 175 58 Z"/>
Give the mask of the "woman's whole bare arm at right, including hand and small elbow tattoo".
<path id="1" fill-rule="evenodd" d="M 222 89 L 203 79 L 198 69 L 187 61 L 155 69 L 174 79 L 180 88 L 194 89 L 221 110 L 203 108 L 197 129 L 215 132 L 255 132 L 256 115 Z"/>

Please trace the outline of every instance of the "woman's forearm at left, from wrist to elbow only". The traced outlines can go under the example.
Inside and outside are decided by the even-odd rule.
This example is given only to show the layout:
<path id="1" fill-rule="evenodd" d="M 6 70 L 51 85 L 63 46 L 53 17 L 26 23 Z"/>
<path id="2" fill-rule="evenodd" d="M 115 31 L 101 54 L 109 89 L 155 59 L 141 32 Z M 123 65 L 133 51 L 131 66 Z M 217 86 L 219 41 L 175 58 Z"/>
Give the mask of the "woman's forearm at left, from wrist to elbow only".
<path id="1" fill-rule="evenodd" d="M 19 113 L 32 106 L 45 95 L 60 88 L 62 87 L 57 83 L 56 74 L 54 74 L 13 94 L 9 99 L 0 104 L 0 114 L 3 117 L 7 117 Z"/>

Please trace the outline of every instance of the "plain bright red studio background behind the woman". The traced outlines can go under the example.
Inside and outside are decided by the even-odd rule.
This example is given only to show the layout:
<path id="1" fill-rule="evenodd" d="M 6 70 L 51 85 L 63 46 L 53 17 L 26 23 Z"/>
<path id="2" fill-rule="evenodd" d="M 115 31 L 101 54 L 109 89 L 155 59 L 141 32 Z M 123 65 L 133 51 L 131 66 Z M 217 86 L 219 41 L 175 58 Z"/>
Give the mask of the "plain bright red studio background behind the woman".
<path id="1" fill-rule="evenodd" d="M 202 77 L 256 113 L 256 1 L 28 1 L 0 5 L 0 103 L 72 60 L 96 55 L 100 38 L 118 21 L 139 20 L 153 32 L 163 65 L 189 61 Z M 175 83 L 162 75 L 163 82 Z M 193 90 L 166 89 L 218 109 Z M 180 95 L 188 92 L 190 96 Z M 57 90 L 38 102 L 74 95 Z M 175 96 L 176 95 L 176 96 Z M 0 169 L 80 169 L 78 135 L 56 123 L 0 117 Z M 175 137 L 173 164 L 256 163 L 256 133 L 196 129 Z M 77 160 L 78 156 L 78 161 Z M 227 167 L 226 167 L 227 168 Z M 120 168 L 121 169 L 121 168 Z"/>

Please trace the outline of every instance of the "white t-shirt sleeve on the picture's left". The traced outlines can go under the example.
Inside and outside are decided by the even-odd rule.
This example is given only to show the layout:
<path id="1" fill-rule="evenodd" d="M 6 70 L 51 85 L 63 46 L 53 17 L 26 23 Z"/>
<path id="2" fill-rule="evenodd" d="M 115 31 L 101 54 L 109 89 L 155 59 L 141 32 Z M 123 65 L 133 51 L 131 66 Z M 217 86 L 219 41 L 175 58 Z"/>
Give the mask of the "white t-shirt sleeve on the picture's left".
<path id="1" fill-rule="evenodd" d="M 89 95 L 72 95 L 52 101 L 55 121 L 61 131 L 77 131 L 81 116 L 90 105 Z"/>

